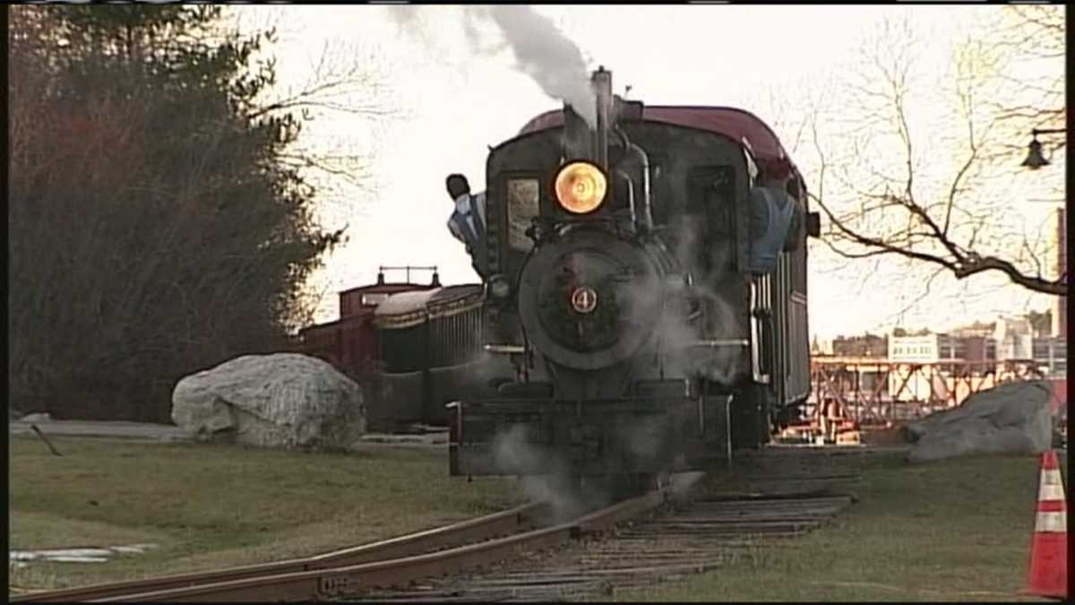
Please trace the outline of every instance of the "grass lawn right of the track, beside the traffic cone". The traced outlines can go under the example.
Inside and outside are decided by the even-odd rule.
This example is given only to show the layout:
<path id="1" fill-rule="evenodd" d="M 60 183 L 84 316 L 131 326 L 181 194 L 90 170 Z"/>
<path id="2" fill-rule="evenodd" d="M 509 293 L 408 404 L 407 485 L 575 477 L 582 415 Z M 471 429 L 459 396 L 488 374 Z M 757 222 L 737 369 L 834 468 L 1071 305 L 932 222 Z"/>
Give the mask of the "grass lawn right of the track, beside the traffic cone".
<path id="1" fill-rule="evenodd" d="M 1066 490 L 1066 452 L 1060 455 Z M 831 525 L 748 551 L 715 572 L 617 591 L 616 599 L 1040 601 L 1018 594 L 1034 531 L 1036 456 L 913 466 L 878 454 L 854 464 L 862 473 L 860 501 Z"/>

